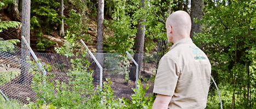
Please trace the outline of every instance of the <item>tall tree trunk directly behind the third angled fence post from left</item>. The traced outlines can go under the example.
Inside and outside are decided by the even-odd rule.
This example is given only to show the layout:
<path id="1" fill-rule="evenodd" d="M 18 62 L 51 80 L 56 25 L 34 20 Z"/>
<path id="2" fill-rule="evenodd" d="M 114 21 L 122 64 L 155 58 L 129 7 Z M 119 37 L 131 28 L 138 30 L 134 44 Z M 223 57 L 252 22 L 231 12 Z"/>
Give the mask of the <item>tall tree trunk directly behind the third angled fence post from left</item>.
<path id="1" fill-rule="evenodd" d="M 141 5 L 140 8 L 145 7 L 145 0 L 140 1 Z M 144 50 L 144 40 L 145 40 L 145 24 L 143 24 L 146 19 L 145 15 L 143 15 L 137 24 L 137 34 L 136 34 L 136 40 L 135 40 L 135 50 L 136 53 L 134 54 L 134 60 L 135 62 L 139 65 L 139 71 L 138 71 L 138 76 L 140 75 L 141 72 L 141 64 L 143 60 L 143 50 Z M 130 70 L 129 74 L 130 80 L 135 81 L 136 80 L 136 65 L 133 63 L 133 67 Z"/>

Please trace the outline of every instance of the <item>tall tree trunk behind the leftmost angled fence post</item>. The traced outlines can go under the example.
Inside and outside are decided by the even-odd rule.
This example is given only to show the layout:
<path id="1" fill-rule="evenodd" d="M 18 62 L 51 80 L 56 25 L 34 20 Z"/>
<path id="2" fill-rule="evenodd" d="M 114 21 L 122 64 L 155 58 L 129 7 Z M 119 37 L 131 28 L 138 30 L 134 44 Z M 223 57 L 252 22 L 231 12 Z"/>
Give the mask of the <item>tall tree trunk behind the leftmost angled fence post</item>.
<path id="1" fill-rule="evenodd" d="M 24 36 L 27 40 L 27 43 L 30 44 L 30 0 L 22 1 L 22 26 L 21 26 L 21 35 Z M 21 40 L 21 74 L 19 83 L 24 83 L 26 74 L 29 72 L 27 67 L 27 56 L 30 56 L 28 47 L 25 45 L 24 41 Z"/>

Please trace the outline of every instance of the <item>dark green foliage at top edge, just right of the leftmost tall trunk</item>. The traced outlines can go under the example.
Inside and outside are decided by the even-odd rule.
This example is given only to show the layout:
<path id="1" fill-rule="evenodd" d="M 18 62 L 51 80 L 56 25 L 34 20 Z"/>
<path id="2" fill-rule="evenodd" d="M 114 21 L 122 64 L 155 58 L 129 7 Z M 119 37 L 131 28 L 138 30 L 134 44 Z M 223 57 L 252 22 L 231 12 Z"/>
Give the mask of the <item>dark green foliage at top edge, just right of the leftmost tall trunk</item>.
<path id="1" fill-rule="evenodd" d="M 43 29 L 49 34 L 53 31 L 53 27 L 56 27 L 56 23 L 60 22 L 55 10 L 58 7 L 59 1 L 55 0 L 31 1 L 31 30 L 36 32 L 38 37 L 43 35 Z"/>

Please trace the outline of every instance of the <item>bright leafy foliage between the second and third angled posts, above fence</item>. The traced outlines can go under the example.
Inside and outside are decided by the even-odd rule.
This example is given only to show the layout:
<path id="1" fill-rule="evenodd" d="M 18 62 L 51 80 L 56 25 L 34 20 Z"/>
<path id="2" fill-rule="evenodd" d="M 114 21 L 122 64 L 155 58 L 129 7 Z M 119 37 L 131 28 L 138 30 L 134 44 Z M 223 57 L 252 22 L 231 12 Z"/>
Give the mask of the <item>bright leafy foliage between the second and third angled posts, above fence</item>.
<path id="1" fill-rule="evenodd" d="M 134 45 L 136 37 L 136 28 L 133 25 L 133 19 L 128 14 L 127 1 L 117 0 L 114 2 L 113 20 L 109 23 L 105 21 L 105 25 L 110 26 L 115 33 L 112 36 L 106 36 L 104 44 L 107 46 L 105 51 L 126 52 Z"/>

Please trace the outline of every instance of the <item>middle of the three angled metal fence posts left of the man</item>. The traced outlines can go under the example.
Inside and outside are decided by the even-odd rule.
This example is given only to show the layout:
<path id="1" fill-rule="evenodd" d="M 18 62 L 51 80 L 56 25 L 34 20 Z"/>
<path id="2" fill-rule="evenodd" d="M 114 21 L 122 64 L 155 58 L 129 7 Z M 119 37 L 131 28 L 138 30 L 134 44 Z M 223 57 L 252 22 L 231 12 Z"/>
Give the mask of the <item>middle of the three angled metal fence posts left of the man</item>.
<path id="1" fill-rule="evenodd" d="M 93 60 L 95 61 L 95 63 L 98 65 L 98 67 L 100 68 L 100 91 L 102 90 L 102 76 L 103 76 L 103 68 L 101 67 L 100 63 L 98 62 L 98 60 L 94 57 L 93 53 L 90 52 L 90 50 L 88 49 L 88 47 L 86 46 L 86 44 L 84 44 L 83 40 L 80 40 L 81 43 L 83 44 L 84 47 L 86 47 L 87 51 L 89 52 L 90 56 L 93 58 Z"/>

